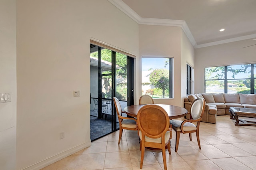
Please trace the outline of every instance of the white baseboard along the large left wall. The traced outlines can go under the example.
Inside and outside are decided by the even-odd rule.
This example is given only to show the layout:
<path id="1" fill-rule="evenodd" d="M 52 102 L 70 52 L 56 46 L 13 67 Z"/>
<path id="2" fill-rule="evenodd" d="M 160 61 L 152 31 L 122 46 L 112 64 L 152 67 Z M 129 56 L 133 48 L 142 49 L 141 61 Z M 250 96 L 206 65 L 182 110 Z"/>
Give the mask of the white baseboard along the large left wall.
<path id="1" fill-rule="evenodd" d="M 70 156 L 70 155 L 72 155 L 72 154 L 74 154 L 74 153 L 76 153 L 76 152 L 78 152 L 78 151 L 80 151 L 84 148 L 87 148 L 89 146 L 91 146 L 91 142 L 82 143 L 78 146 L 70 148 L 70 149 L 68 149 L 64 152 L 58 153 L 54 156 L 46 158 L 46 159 L 44 159 L 40 162 L 37 162 L 33 165 L 30 165 L 30 166 L 28 166 L 26 168 L 23 168 L 23 169 L 20 169 L 20 170 L 40 170 L 40 169 L 42 169 L 42 168 L 44 168 L 44 167 L 46 167 L 46 166 L 48 166 L 48 165 L 50 165 L 54 162 L 57 162 L 58 160 L 66 158 L 67 156 Z"/>

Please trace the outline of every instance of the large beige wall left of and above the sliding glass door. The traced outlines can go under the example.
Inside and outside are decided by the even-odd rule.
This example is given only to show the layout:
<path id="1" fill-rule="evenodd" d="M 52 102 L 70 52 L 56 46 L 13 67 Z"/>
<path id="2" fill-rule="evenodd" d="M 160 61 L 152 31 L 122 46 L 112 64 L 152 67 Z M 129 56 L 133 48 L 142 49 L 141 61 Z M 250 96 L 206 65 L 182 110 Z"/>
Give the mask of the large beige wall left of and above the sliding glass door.
<path id="1" fill-rule="evenodd" d="M 90 38 L 138 55 L 138 32 L 107 0 L 17 1 L 18 169 L 90 145 Z"/>

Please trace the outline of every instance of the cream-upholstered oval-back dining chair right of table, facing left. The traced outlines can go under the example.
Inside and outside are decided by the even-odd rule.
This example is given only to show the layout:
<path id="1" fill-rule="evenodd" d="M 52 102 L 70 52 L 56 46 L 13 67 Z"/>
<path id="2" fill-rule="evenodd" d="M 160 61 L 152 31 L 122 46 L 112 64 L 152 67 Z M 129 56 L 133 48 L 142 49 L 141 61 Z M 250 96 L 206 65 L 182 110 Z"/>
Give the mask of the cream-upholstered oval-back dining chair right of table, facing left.
<path id="1" fill-rule="evenodd" d="M 172 125 L 172 128 L 176 132 L 175 152 L 178 151 L 180 133 L 188 133 L 189 139 L 190 141 L 192 141 L 191 133 L 196 132 L 198 146 L 199 146 L 199 149 L 201 149 L 200 139 L 199 139 L 199 126 L 204 113 L 204 107 L 205 107 L 205 100 L 204 98 L 200 97 L 194 100 L 193 103 L 191 104 L 190 111 L 188 112 L 188 114 L 190 114 L 190 117 L 191 117 L 190 120 L 185 120 L 185 121 L 170 120 L 170 124 Z M 196 125 L 194 125 L 193 122 L 196 123 Z"/>

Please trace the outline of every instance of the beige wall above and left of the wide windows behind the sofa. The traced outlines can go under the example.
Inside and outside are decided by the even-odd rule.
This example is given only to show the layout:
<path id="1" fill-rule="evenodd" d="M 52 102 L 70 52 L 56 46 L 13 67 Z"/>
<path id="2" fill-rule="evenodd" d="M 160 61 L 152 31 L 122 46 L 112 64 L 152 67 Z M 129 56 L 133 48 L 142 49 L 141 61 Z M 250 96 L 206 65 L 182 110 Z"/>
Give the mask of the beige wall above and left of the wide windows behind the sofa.
<path id="1" fill-rule="evenodd" d="M 224 43 L 195 50 L 195 93 L 204 93 L 204 67 L 256 63 L 256 40 Z M 243 48 L 246 47 L 246 48 Z"/>

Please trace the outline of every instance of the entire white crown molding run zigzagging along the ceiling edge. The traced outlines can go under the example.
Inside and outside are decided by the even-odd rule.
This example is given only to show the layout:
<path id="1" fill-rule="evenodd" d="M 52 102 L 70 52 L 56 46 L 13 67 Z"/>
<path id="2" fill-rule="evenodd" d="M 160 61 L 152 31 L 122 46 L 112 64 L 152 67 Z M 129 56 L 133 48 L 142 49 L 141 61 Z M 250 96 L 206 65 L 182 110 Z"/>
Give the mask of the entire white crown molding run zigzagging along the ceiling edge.
<path id="1" fill-rule="evenodd" d="M 132 8 L 130 8 L 128 5 L 126 5 L 122 0 L 108 0 L 111 4 L 116 6 L 119 10 L 124 12 L 127 16 L 132 18 L 135 22 L 142 25 L 158 25 L 158 26 L 174 26 L 174 27 L 181 27 L 186 36 L 188 37 L 190 43 L 194 46 L 194 48 L 202 48 L 202 47 L 209 47 L 212 45 L 219 45 L 223 43 L 230 43 L 230 42 L 236 42 L 240 40 L 247 40 L 250 38 L 256 38 L 256 34 L 251 34 L 248 36 L 241 36 L 236 38 L 230 38 L 226 40 L 216 41 L 216 42 L 210 42 L 210 43 L 203 43 L 203 44 L 197 44 L 196 40 L 194 39 L 192 33 L 190 32 L 190 29 L 188 28 L 188 25 L 186 24 L 186 21 L 183 20 L 168 20 L 168 19 L 158 19 L 158 18 L 142 18 L 140 17 Z"/>

